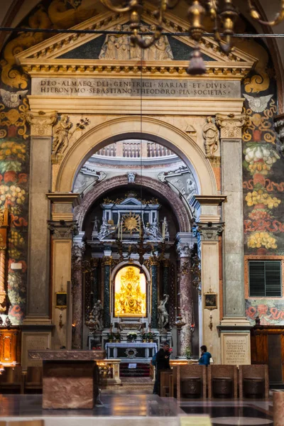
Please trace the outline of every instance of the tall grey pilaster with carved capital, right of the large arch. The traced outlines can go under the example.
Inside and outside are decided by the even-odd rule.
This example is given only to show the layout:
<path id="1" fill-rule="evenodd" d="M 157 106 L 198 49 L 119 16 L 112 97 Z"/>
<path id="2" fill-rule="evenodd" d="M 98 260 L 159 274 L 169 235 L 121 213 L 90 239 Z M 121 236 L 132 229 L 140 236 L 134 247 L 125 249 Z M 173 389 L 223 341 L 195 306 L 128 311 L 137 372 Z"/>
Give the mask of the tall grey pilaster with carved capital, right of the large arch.
<path id="1" fill-rule="evenodd" d="M 241 129 L 246 119 L 246 115 L 216 116 L 221 138 L 222 193 L 227 197 L 223 204 L 224 319 L 239 318 L 241 322 L 245 317 Z"/>

